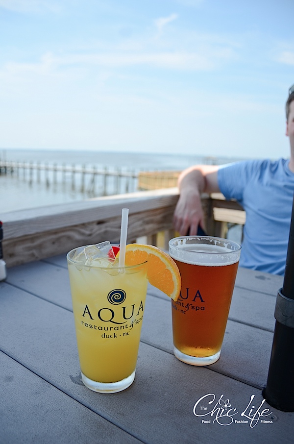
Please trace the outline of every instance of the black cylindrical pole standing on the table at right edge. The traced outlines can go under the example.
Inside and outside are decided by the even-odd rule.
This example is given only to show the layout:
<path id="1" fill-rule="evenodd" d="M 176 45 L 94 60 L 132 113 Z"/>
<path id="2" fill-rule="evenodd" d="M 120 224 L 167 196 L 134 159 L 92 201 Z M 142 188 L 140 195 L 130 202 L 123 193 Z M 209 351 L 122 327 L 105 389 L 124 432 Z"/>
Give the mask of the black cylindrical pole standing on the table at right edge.
<path id="1" fill-rule="evenodd" d="M 294 203 L 283 288 L 278 291 L 266 401 L 283 412 L 294 412 Z"/>

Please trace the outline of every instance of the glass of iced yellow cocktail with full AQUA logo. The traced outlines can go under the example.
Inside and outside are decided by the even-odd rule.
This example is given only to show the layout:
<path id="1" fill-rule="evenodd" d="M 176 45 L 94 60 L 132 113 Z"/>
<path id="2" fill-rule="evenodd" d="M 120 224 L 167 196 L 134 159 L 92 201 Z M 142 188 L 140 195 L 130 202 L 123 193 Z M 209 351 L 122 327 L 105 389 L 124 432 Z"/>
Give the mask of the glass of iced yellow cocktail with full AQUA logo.
<path id="1" fill-rule="evenodd" d="M 81 375 L 89 389 L 115 393 L 135 377 L 147 261 L 119 267 L 107 257 L 85 254 L 93 247 L 67 255 Z"/>

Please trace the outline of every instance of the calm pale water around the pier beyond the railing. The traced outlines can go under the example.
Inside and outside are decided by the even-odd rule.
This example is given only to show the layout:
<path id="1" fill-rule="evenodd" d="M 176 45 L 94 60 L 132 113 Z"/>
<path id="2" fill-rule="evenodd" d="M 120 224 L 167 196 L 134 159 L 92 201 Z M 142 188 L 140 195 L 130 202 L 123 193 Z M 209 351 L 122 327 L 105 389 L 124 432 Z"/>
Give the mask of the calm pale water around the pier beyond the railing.
<path id="1" fill-rule="evenodd" d="M 105 167 L 108 170 L 116 171 L 118 168 L 122 172 L 139 171 L 170 171 L 183 170 L 197 163 L 214 163 L 223 164 L 234 160 L 228 158 L 210 158 L 205 156 L 193 155 L 167 155 L 167 154 L 148 154 L 148 153 L 127 153 L 127 152 L 102 152 L 102 151 L 53 151 L 53 150 L 17 150 L 7 149 L 0 150 L 0 160 L 19 161 L 19 162 L 40 162 L 53 165 L 56 163 L 61 166 L 65 165 L 85 165 L 87 167 L 96 167 L 98 170 Z M 65 179 L 65 181 L 64 181 Z M 79 178 L 76 178 L 77 186 L 75 190 L 72 188 L 71 174 L 67 173 L 66 177 L 61 179 L 61 174 L 57 176 L 57 183 L 53 184 L 52 173 L 49 173 L 47 181 L 44 173 L 41 174 L 40 183 L 37 181 L 36 173 L 33 174 L 32 180 L 29 180 L 28 173 L 26 176 L 20 172 L 19 177 L 16 175 L 0 175 L 0 215 L 4 212 L 35 208 L 44 205 L 62 204 L 65 202 L 73 202 L 77 200 L 93 197 L 89 193 L 90 180 L 85 184 L 85 191 L 80 192 L 78 184 Z M 96 183 L 95 196 L 102 194 L 102 177 L 100 183 Z M 121 180 L 121 191 L 125 192 L 127 187 L 129 192 L 136 191 L 137 183 L 129 180 L 126 184 L 125 180 Z M 109 192 L 115 192 L 115 182 L 111 177 L 108 178 Z M 87 191 L 88 190 L 88 191 Z"/>

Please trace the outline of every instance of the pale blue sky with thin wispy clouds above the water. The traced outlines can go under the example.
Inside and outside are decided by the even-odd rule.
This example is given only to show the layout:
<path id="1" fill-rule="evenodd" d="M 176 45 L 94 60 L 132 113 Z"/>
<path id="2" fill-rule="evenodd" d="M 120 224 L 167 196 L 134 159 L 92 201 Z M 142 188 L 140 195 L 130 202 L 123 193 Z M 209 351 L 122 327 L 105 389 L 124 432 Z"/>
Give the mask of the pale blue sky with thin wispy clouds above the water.
<path id="1" fill-rule="evenodd" d="M 0 149 L 289 157 L 294 0 L 0 0 Z"/>

